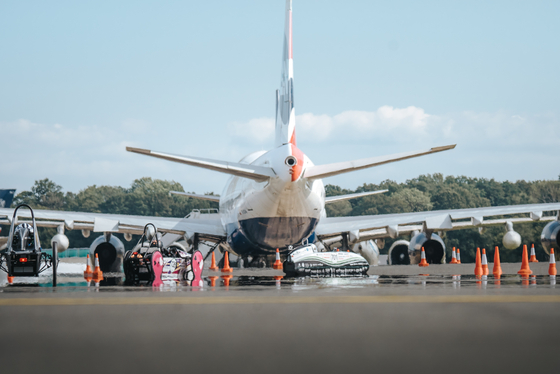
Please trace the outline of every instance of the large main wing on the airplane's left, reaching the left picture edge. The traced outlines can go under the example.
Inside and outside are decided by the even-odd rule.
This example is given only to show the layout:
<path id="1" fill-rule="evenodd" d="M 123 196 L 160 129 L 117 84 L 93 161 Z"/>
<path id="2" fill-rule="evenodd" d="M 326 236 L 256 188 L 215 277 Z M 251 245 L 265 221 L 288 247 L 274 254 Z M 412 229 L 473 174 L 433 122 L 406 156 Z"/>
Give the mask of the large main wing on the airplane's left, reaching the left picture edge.
<path id="1" fill-rule="evenodd" d="M 178 235 L 199 234 L 203 239 L 217 241 L 226 232 L 217 213 L 201 214 L 193 212 L 185 218 L 133 216 L 125 214 L 80 213 L 58 210 L 34 209 L 39 227 L 58 227 L 67 230 L 88 230 L 93 232 L 114 232 L 141 235 L 147 223 L 153 223 L 158 231 Z M 0 225 L 9 225 L 14 209 L 0 209 Z M 30 219 L 30 212 L 18 211 L 20 222 Z"/>

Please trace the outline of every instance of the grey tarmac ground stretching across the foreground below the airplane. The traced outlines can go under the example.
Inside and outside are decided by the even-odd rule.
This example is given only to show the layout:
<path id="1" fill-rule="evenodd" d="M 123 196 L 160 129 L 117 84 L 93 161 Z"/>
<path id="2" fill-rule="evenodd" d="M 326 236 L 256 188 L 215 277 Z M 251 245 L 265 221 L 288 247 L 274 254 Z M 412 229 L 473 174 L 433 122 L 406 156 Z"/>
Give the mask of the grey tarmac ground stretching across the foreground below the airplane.
<path id="1" fill-rule="evenodd" d="M 531 264 L 536 276 L 527 279 L 516 274 L 519 268 L 502 263 L 500 280 L 476 279 L 474 264 L 281 280 L 271 269 L 235 269 L 229 286 L 220 278 L 210 286 L 215 273 L 205 271 L 202 287 L 96 288 L 68 265 L 56 289 L 48 277 L 0 287 L 0 367 L 9 373 L 556 372 L 560 285 L 545 275 L 547 263 Z"/>

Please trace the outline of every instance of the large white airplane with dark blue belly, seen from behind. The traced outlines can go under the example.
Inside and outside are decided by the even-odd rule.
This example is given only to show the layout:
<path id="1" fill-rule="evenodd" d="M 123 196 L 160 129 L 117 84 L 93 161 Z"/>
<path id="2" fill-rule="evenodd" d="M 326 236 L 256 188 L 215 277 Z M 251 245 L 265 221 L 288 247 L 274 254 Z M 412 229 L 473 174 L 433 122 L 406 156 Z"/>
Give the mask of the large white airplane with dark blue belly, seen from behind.
<path id="1" fill-rule="evenodd" d="M 389 249 L 389 263 L 418 263 L 422 247 L 428 263 L 443 263 L 445 244 L 440 237 L 443 232 L 503 225 L 506 229 L 503 244 L 513 249 L 521 244 L 513 224 L 534 221 L 551 221 L 543 230 L 543 245 L 547 251 L 558 249 L 560 203 L 327 217 L 325 204 L 386 191 L 326 197 L 322 179 L 451 150 L 455 145 L 315 165 L 296 141 L 292 36 L 292 1 L 286 0 L 273 149 L 251 153 L 239 162 L 227 162 L 127 147 L 127 151 L 140 155 L 229 174 L 231 177 L 221 196 L 173 192 L 216 201 L 218 212 L 194 211 L 184 218 L 163 218 L 36 210 L 37 225 L 57 227 L 57 240 L 63 241 L 59 243 L 61 249 L 68 246 L 68 240 L 63 240 L 65 229 L 82 230 L 86 237 L 92 231 L 103 232 L 105 235 L 98 237 L 90 247 L 92 258 L 95 253 L 99 254 L 103 271 L 116 271 L 122 265 L 124 246 L 112 233 L 123 233 L 126 240 L 131 240 L 132 234 L 142 234 L 148 222 L 164 233 L 164 246 L 184 247 L 181 242 L 184 239 L 191 250 L 196 250 L 201 243 L 209 243 L 212 250 L 229 251 L 243 263 L 250 262 L 253 266 L 270 263 L 276 249 L 286 256 L 292 248 L 308 243 L 317 243 L 321 249 L 337 245 L 342 250 L 361 254 L 375 265 L 385 238 L 396 239 L 403 234 L 411 234 L 411 241 L 396 241 Z M 11 209 L 0 209 L 0 224 L 9 222 L 12 213 Z"/>

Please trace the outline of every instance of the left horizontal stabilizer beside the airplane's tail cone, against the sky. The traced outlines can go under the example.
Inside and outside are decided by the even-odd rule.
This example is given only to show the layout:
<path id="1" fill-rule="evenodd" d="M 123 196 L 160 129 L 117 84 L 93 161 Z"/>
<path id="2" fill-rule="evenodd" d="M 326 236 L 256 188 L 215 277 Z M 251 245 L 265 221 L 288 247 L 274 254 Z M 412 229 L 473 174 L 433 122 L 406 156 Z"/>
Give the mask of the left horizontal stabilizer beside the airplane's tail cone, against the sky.
<path id="1" fill-rule="evenodd" d="M 197 166 L 199 168 L 219 171 L 220 173 L 231 174 L 242 178 L 253 179 L 257 182 L 264 182 L 267 181 L 269 178 L 275 176 L 274 170 L 272 170 L 272 168 L 267 168 L 264 166 L 239 164 L 236 162 L 218 161 L 218 160 L 211 160 L 211 159 L 201 158 L 201 157 L 179 156 L 179 155 L 173 155 L 169 153 L 150 151 L 149 149 L 141 149 L 141 148 L 126 147 L 126 150 L 129 152 L 140 153 L 146 156 L 162 158 L 168 161 L 179 162 L 181 164 L 187 164 L 191 166 Z"/>

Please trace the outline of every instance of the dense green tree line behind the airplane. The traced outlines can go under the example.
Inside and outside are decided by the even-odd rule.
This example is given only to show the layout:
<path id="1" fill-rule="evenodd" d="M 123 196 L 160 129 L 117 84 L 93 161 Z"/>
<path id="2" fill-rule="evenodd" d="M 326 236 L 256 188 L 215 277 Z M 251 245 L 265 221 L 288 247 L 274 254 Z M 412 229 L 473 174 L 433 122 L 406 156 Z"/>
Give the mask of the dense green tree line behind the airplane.
<path id="1" fill-rule="evenodd" d="M 560 201 L 560 178 L 548 181 L 498 182 L 494 179 L 428 174 L 403 183 L 385 180 L 379 184 L 363 184 L 355 190 L 343 189 L 331 184 L 326 185 L 325 189 L 327 196 L 389 190 L 385 194 L 327 204 L 327 215 L 331 217 Z M 36 181 L 30 191 L 23 191 L 16 195 L 12 206 L 26 203 L 38 209 L 161 217 L 184 217 L 193 209 L 218 208 L 216 202 L 170 195 L 169 191 L 184 192 L 184 189 L 175 181 L 152 180 L 145 177 L 134 180 L 129 188 L 93 185 L 73 193 L 63 192 L 62 187 L 55 182 L 43 179 Z M 540 244 L 540 234 L 545 224 L 535 222 L 518 224 L 514 227 L 521 235 L 523 243 L 535 244 L 537 258 L 542 261 L 548 259 Z M 50 238 L 55 232 L 55 229 L 40 229 L 43 247 L 50 247 Z M 448 260 L 451 258 L 452 247 L 461 249 L 461 258 L 464 262 L 473 261 L 477 247 L 490 250 L 497 245 L 502 248 L 504 233 L 504 228 L 501 226 L 486 228 L 482 233 L 479 233 L 477 228 L 444 233 L 443 240 L 447 246 Z M 79 231 L 67 231 L 66 235 L 72 247 L 89 246 L 95 237 L 92 235 L 83 238 Z M 405 237 L 405 239 L 409 238 Z M 125 242 L 125 245 L 131 246 L 136 240 L 128 245 Z M 387 240 L 381 252 L 386 253 L 391 244 L 392 240 Z M 490 250 L 489 253 L 493 251 Z M 500 254 L 504 262 L 519 261 L 521 258 L 520 249 L 501 250 Z"/>

